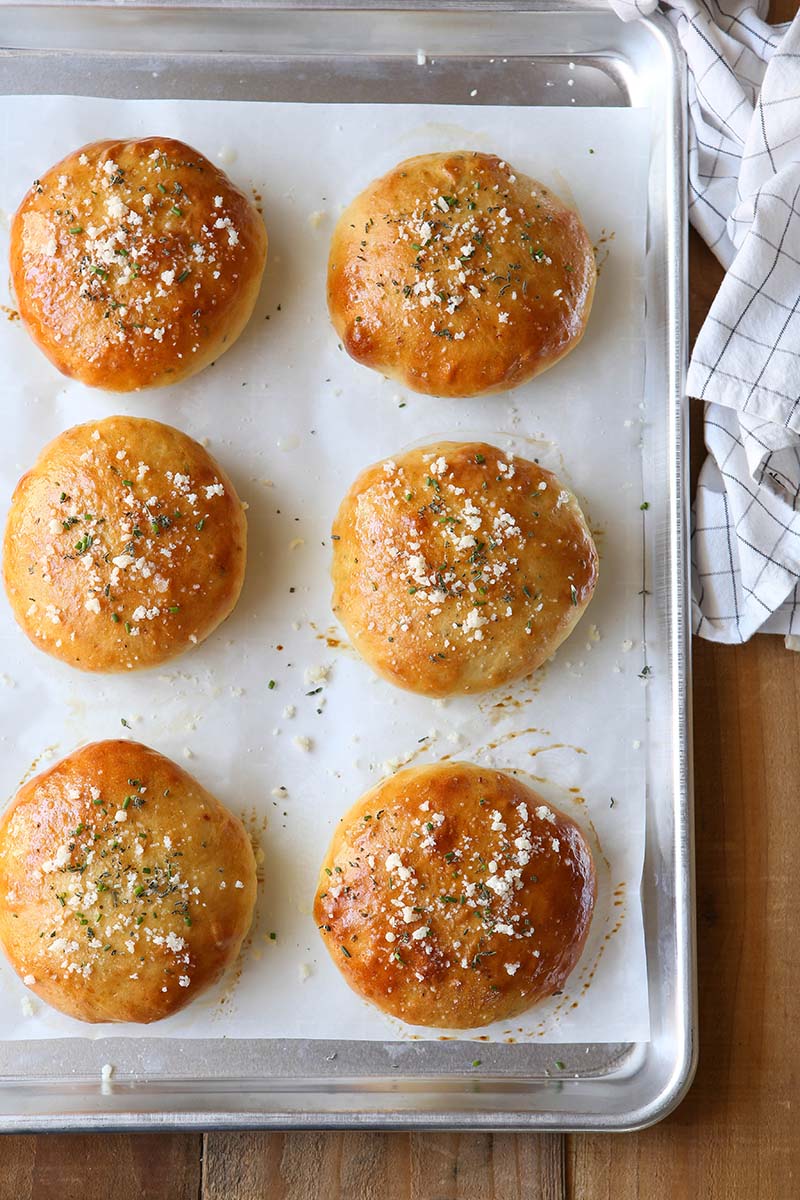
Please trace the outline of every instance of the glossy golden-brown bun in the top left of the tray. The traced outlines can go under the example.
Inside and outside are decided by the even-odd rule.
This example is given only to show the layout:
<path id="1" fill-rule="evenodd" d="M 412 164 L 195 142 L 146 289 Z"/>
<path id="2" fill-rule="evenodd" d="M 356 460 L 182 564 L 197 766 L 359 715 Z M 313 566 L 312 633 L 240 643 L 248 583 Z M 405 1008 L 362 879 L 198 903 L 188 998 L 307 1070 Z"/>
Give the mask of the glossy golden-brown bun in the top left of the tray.
<path id="1" fill-rule="evenodd" d="M 92 142 L 50 168 L 11 226 L 19 316 L 90 388 L 178 383 L 229 349 L 266 262 L 264 222 L 172 138 Z"/>

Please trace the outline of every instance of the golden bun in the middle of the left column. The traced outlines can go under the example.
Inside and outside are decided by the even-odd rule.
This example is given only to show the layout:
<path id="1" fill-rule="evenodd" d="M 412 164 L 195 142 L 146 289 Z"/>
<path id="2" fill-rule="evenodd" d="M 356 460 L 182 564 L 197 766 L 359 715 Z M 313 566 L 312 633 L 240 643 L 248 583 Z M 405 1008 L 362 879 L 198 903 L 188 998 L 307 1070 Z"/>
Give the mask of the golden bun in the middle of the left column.
<path id="1" fill-rule="evenodd" d="M 234 486 L 158 421 L 76 425 L 17 484 L 2 570 L 14 617 L 83 671 L 166 662 L 230 613 L 245 577 Z"/>

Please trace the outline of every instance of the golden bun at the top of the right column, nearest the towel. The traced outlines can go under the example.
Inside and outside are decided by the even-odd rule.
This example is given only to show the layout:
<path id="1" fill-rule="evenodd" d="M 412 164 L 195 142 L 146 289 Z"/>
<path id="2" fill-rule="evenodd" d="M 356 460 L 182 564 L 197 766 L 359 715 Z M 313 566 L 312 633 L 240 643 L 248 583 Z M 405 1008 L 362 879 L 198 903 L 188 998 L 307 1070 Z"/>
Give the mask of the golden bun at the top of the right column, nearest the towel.
<path id="1" fill-rule="evenodd" d="M 425 154 L 342 214 L 327 270 L 348 354 L 432 396 L 516 388 L 583 337 L 597 270 L 578 214 L 497 155 Z"/>

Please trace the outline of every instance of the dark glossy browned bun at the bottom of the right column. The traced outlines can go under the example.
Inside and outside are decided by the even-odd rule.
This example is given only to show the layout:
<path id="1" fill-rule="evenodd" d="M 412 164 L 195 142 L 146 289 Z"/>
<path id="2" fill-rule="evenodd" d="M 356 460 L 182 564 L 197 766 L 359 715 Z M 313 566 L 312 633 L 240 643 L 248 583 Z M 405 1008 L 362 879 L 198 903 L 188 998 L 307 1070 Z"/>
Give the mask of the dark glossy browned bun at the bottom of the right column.
<path id="1" fill-rule="evenodd" d="M 385 779 L 342 818 L 314 919 L 365 1000 L 476 1028 L 564 986 L 595 894 L 575 822 L 505 772 L 441 763 Z"/>

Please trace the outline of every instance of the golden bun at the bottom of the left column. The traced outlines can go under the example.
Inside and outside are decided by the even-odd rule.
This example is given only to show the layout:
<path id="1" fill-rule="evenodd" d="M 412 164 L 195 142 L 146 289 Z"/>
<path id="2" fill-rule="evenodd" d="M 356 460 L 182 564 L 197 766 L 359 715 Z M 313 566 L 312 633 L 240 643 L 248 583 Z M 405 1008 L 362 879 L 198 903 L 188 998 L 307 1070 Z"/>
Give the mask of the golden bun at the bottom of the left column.
<path id="1" fill-rule="evenodd" d="M 169 758 L 96 742 L 0 820 L 0 943 L 80 1021 L 157 1021 L 239 954 L 255 902 L 241 821 Z"/>

